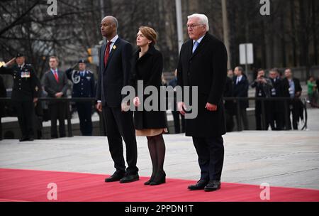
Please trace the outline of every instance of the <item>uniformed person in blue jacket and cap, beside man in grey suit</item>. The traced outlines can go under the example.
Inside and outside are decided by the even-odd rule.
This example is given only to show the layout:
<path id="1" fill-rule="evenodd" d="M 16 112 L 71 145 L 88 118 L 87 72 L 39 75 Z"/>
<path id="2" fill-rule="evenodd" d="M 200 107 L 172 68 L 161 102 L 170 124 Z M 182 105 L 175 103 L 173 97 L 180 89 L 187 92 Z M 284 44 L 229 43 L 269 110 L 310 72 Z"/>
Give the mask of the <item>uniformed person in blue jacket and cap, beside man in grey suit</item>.
<path id="1" fill-rule="evenodd" d="M 72 97 L 95 97 L 94 74 L 86 70 L 84 60 L 79 60 L 79 70 L 69 68 L 66 71 L 67 77 L 73 83 Z M 79 114 L 80 130 L 83 136 L 92 135 L 92 103 L 76 102 L 77 113 Z"/>

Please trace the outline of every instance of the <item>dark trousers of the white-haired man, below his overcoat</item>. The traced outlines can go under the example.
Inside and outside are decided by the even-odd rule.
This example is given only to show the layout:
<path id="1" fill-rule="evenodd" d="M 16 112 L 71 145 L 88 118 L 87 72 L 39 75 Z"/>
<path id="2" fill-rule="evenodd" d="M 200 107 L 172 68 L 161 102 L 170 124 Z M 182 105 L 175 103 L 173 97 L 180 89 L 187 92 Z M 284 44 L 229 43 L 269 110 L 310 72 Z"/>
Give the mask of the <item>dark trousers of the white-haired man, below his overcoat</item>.
<path id="1" fill-rule="evenodd" d="M 220 180 L 224 162 L 223 137 L 193 137 L 201 179 Z"/>

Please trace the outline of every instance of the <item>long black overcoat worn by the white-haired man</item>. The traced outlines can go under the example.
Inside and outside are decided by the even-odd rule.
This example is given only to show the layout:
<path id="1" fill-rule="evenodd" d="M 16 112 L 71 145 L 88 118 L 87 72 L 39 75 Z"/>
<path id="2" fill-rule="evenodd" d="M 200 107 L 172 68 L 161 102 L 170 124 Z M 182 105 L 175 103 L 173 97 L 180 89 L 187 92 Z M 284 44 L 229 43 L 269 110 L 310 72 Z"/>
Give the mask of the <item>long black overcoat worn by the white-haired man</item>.
<path id="1" fill-rule="evenodd" d="M 181 47 L 177 82 L 181 87 L 198 86 L 198 115 L 186 119 L 186 136 L 211 137 L 225 134 L 223 92 L 227 77 L 225 45 L 209 33 L 192 53 L 193 40 Z M 206 103 L 216 104 L 216 112 L 209 112 Z"/>

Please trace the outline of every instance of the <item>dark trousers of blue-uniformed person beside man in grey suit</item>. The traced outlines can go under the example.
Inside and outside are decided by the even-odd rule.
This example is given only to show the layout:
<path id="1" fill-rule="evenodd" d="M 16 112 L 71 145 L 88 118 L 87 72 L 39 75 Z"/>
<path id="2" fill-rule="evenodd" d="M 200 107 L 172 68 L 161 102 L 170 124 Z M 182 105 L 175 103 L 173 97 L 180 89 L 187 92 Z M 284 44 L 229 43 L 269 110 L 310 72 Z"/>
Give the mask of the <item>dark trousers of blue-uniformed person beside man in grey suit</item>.
<path id="1" fill-rule="evenodd" d="M 83 136 L 92 136 L 92 104 L 91 102 L 77 102 L 80 130 Z"/>

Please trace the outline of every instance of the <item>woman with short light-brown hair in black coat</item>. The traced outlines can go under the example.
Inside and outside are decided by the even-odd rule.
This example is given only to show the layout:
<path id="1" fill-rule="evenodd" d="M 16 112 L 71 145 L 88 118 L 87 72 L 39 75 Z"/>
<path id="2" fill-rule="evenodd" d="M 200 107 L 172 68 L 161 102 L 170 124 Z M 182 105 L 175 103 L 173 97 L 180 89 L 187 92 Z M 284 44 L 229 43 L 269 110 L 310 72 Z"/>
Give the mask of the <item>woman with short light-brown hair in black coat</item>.
<path id="1" fill-rule="evenodd" d="M 132 80 L 131 84 L 138 92 L 138 81 L 142 81 L 144 89 L 147 86 L 157 88 L 159 96 L 159 88 L 162 86 L 162 54 L 155 49 L 157 34 L 154 29 L 146 26 L 139 28 L 136 44 L 139 49 L 133 55 L 132 63 Z M 153 94 L 153 92 L 152 92 Z M 150 151 L 152 160 L 152 176 L 150 180 L 145 182 L 145 185 L 159 185 L 165 183 L 166 174 L 163 169 L 165 157 L 165 144 L 162 134 L 167 132 L 167 124 L 165 121 L 165 111 L 160 111 L 158 98 L 157 111 L 154 109 L 145 110 L 145 99 L 151 95 L 143 95 L 143 100 L 140 97 L 135 97 L 133 102 L 137 111 L 134 112 L 134 124 L 137 136 L 147 137 L 147 146 Z M 142 111 L 138 107 L 143 105 Z M 150 103 L 152 106 L 153 104 Z"/>

